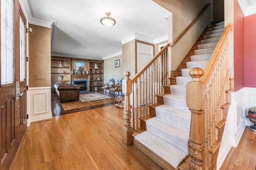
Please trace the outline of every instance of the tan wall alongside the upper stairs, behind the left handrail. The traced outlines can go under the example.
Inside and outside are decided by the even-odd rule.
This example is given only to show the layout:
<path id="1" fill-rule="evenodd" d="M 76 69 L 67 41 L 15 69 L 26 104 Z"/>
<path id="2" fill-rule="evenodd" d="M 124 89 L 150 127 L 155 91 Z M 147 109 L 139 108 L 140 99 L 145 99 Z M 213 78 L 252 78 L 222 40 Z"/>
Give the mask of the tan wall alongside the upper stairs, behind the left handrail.
<path id="1" fill-rule="evenodd" d="M 168 18 L 169 42 L 172 42 L 200 14 L 210 0 L 153 0 L 170 12 Z M 210 25 L 211 8 L 204 13 L 194 26 L 172 47 L 172 70 L 176 70 L 190 48 L 194 45 L 207 25 Z"/>

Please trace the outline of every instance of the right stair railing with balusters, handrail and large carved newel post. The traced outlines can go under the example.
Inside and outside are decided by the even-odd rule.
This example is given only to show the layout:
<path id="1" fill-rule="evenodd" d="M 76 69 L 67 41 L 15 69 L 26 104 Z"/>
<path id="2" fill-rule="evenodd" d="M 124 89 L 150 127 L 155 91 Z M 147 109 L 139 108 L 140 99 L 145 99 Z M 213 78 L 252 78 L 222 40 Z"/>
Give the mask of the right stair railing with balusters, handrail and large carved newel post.
<path id="1" fill-rule="evenodd" d="M 222 134 L 232 91 L 228 66 L 228 35 L 224 32 L 204 70 L 192 68 L 192 81 L 186 86 L 186 104 L 191 111 L 189 155 L 190 169 L 216 169 Z"/>

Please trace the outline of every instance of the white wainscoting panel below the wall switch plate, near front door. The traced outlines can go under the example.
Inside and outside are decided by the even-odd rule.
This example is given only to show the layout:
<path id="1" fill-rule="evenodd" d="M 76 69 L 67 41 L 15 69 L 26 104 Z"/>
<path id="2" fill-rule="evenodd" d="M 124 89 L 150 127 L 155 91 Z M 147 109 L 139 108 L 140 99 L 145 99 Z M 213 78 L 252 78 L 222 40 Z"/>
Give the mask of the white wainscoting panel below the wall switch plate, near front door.
<path id="1" fill-rule="evenodd" d="M 28 126 L 33 121 L 52 118 L 51 87 L 28 89 Z"/>

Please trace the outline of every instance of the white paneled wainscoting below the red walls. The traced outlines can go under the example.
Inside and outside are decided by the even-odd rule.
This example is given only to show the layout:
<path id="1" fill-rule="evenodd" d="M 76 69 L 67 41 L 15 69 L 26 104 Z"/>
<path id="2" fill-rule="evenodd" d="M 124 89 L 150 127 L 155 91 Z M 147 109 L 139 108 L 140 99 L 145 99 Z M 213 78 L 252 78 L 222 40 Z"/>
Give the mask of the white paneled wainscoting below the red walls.
<path id="1" fill-rule="evenodd" d="M 228 110 L 222 143 L 217 160 L 220 169 L 231 147 L 237 147 L 246 126 L 253 125 L 247 118 L 248 109 L 256 106 L 256 88 L 242 88 L 231 94 L 232 105 Z"/>

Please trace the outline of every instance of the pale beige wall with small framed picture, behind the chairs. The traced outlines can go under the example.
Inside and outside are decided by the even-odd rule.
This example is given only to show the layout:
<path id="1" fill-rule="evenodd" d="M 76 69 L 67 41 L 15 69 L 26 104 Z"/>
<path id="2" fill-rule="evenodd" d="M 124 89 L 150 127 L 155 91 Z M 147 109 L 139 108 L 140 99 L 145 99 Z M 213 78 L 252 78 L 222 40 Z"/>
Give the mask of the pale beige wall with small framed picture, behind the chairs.
<path id="1" fill-rule="evenodd" d="M 120 60 L 120 67 L 115 67 L 115 61 Z M 122 55 L 104 60 L 104 83 L 108 83 L 111 78 L 114 78 L 115 84 L 118 84 L 123 78 L 123 60 Z"/>

